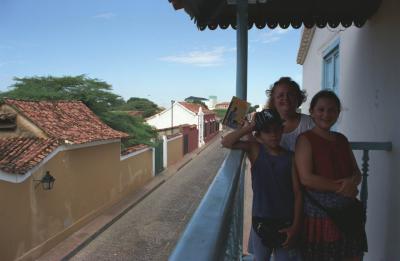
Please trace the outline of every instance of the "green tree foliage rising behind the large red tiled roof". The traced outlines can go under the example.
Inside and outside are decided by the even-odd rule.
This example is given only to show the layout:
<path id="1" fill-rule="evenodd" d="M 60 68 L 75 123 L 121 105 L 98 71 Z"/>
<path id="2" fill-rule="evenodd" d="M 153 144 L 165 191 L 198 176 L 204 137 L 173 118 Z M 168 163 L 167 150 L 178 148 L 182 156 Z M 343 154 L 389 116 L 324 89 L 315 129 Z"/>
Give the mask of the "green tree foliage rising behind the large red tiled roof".
<path id="1" fill-rule="evenodd" d="M 121 96 L 112 93 L 111 85 L 104 81 L 88 78 L 85 75 L 36 76 L 14 78 L 14 80 L 15 83 L 10 86 L 9 91 L 0 93 L 0 99 L 8 97 L 47 101 L 80 100 L 110 127 L 130 135 L 130 138 L 123 141 L 125 147 L 140 143 L 151 144 L 151 139 L 156 137 L 155 130 L 143 119 L 113 111 L 123 106 L 132 106 L 132 108 L 136 106 L 135 108 L 145 108 L 145 111 L 151 111 L 146 106 L 157 108 L 157 105 L 141 98 L 131 98 L 125 103 Z"/>

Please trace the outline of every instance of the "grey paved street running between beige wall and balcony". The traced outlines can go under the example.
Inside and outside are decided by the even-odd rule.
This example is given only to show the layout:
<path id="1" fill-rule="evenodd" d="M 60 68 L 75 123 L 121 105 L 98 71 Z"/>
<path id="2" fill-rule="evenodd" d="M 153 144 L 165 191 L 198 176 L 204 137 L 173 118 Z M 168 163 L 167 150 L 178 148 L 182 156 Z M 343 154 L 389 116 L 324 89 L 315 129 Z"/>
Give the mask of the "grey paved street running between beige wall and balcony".
<path id="1" fill-rule="evenodd" d="M 71 260 L 167 260 L 227 153 L 216 139 Z"/>

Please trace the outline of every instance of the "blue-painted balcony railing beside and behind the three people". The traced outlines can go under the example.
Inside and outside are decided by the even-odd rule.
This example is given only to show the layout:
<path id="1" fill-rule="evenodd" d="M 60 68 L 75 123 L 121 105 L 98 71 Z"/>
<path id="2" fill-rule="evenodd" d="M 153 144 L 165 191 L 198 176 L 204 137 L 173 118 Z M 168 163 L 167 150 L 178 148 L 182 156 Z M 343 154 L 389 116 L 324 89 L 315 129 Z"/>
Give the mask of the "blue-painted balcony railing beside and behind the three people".
<path id="1" fill-rule="evenodd" d="M 367 206 L 369 151 L 390 151 L 391 142 L 351 142 L 362 150 L 360 198 Z M 171 254 L 170 261 L 242 260 L 244 154 L 231 151 Z"/>

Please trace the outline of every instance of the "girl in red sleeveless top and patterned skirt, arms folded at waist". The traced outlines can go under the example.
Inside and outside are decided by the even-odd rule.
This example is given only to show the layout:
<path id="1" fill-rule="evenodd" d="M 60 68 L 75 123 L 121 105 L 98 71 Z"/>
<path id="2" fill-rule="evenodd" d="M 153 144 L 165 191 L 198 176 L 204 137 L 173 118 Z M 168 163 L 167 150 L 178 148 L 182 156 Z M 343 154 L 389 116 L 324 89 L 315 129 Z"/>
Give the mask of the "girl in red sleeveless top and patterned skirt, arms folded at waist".
<path id="1" fill-rule="evenodd" d="M 326 211 L 317 206 L 344 207 L 358 194 L 361 174 L 349 142 L 343 134 L 331 131 L 340 108 L 335 93 L 317 93 L 310 104 L 315 127 L 301 134 L 296 143 L 296 168 L 306 189 L 305 260 L 360 260 L 367 247 L 365 231 L 358 236 L 343 234 Z"/>

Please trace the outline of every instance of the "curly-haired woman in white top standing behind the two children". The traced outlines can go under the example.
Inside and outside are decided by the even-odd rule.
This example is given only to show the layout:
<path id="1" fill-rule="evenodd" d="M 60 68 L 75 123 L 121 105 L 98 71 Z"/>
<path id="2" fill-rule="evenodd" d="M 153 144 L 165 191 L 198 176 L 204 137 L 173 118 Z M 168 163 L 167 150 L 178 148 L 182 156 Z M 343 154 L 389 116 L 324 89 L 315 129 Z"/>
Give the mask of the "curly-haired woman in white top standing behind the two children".
<path id="1" fill-rule="evenodd" d="M 297 136 L 314 127 L 310 116 L 297 112 L 306 100 L 305 92 L 290 77 L 281 77 L 266 94 L 269 97 L 267 107 L 276 109 L 285 121 L 281 146 L 294 151 Z"/>

